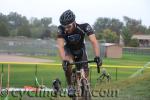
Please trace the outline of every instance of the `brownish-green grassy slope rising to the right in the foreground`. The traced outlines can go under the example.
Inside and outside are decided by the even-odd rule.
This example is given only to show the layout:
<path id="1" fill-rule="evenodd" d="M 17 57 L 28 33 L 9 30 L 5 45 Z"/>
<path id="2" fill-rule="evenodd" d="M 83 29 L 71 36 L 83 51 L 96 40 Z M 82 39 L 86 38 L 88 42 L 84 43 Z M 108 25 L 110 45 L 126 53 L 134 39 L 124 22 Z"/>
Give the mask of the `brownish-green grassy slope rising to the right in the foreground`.
<path id="1" fill-rule="evenodd" d="M 117 97 L 95 98 L 94 100 L 149 100 L 150 98 L 150 73 L 145 73 L 136 78 L 128 78 L 114 83 L 97 86 L 97 89 L 118 90 Z"/>

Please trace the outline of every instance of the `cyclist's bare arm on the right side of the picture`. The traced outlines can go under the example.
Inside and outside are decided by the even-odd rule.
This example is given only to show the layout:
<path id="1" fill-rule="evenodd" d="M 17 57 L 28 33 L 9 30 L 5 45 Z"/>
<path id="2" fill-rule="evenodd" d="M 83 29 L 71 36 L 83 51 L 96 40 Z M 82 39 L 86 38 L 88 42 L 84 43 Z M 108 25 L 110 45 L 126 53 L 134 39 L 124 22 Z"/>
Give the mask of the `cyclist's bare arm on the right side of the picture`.
<path id="1" fill-rule="evenodd" d="M 93 46 L 95 56 L 99 57 L 100 56 L 100 48 L 99 48 L 99 44 L 98 44 L 95 34 L 89 35 L 89 40 Z"/>

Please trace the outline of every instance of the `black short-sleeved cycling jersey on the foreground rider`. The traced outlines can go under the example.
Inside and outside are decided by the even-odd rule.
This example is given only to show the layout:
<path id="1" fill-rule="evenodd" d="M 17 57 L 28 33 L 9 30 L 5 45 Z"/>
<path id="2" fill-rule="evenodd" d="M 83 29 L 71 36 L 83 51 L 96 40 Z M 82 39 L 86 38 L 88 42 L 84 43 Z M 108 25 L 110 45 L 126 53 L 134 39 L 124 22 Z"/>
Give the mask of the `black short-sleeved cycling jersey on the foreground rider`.
<path id="1" fill-rule="evenodd" d="M 88 24 L 76 24 L 76 28 L 72 33 L 65 33 L 63 26 L 58 26 L 57 38 L 64 38 L 66 42 L 66 47 L 71 50 L 82 49 L 84 44 L 84 37 L 86 35 L 94 34 L 92 27 Z"/>

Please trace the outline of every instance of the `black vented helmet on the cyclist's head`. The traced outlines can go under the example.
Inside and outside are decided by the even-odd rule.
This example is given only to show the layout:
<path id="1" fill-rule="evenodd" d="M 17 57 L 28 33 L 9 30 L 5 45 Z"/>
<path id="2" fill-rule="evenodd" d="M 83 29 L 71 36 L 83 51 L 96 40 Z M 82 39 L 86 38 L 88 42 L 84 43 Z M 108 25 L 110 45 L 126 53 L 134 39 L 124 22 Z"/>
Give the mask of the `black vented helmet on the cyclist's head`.
<path id="1" fill-rule="evenodd" d="M 67 25 L 75 21 L 75 15 L 71 10 L 66 10 L 59 18 L 62 25 Z"/>

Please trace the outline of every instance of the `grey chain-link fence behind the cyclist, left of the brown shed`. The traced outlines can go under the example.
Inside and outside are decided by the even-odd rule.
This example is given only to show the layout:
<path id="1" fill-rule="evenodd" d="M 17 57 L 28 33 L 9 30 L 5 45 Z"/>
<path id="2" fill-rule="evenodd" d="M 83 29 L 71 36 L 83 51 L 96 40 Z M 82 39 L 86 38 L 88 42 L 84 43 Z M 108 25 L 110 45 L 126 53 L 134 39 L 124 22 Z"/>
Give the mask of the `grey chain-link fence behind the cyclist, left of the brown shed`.
<path id="1" fill-rule="evenodd" d="M 104 43 L 104 41 L 100 41 Z M 91 43 L 86 42 L 87 54 L 94 57 L 94 51 Z M 0 54 L 31 55 L 31 56 L 58 56 L 57 44 L 54 39 L 30 39 L 2 38 L 0 37 Z M 101 47 L 101 56 L 104 57 L 105 47 Z"/>

